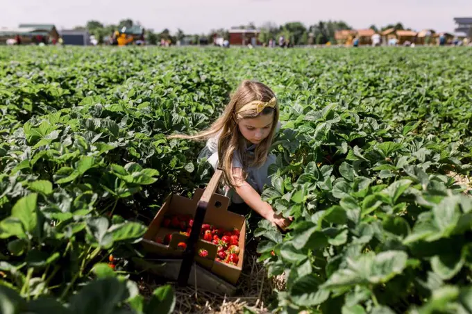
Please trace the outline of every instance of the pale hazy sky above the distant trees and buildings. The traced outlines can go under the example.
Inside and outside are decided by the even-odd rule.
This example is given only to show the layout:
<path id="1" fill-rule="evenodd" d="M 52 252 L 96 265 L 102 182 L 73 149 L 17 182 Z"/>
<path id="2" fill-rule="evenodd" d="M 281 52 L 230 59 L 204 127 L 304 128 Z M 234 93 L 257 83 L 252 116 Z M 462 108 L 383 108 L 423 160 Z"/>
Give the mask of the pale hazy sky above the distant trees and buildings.
<path id="1" fill-rule="evenodd" d="M 209 33 L 253 22 L 278 25 L 344 20 L 353 28 L 403 23 L 416 31 L 432 28 L 453 32 L 454 17 L 472 17 L 472 0 L 2 0 L 0 27 L 20 23 L 73 28 L 96 19 L 117 24 L 133 19 L 144 28 L 171 33 Z"/>

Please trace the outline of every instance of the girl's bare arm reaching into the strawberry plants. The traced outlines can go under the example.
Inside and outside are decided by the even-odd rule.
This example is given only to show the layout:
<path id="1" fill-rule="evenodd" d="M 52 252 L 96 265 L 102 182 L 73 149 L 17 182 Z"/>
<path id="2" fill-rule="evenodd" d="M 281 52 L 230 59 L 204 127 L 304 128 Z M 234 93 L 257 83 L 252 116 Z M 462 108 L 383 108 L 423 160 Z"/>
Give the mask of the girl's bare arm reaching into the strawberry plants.
<path id="1" fill-rule="evenodd" d="M 264 219 L 279 226 L 280 229 L 285 230 L 285 228 L 289 226 L 290 220 L 284 218 L 282 215 L 276 214 L 267 201 L 262 201 L 258 191 L 254 190 L 254 188 L 242 178 L 242 168 L 233 167 L 233 176 L 239 185 L 235 186 L 235 191 L 239 197 L 243 199 L 244 203 L 255 210 L 255 212 Z"/>

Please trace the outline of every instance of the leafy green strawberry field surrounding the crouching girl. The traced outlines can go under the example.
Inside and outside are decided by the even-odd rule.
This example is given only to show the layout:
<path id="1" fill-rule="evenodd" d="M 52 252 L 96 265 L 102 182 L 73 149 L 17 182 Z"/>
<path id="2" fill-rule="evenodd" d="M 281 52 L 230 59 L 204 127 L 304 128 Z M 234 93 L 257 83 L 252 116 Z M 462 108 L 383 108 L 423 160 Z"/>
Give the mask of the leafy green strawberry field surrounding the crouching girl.
<path id="1" fill-rule="evenodd" d="M 171 285 L 140 294 L 140 240 L 212 171 L 166 136 L 245 78 L 280 102 L 262 197 L 294 216 L 253 231 L 285 278 L 269 310 L 471 313 L 467 47 L 1 48 L 0 313 L 171 311 Z"/>

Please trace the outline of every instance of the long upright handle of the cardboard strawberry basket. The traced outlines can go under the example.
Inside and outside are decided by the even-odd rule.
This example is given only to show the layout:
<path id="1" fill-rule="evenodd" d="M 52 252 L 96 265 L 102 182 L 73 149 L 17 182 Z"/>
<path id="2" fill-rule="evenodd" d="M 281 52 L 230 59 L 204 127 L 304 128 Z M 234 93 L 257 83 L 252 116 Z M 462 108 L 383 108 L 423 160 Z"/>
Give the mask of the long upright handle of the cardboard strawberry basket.
<path id="1" fill-rule="evenodd" d="M 203 195 L 196 205 L 194 224 L 192 225 L 192 231 L 190 232 L 189 240 L 187 241 L 187 248 L 185 251 L 183 251 L 182 265 L 180 265 L 180 271 L 178 273 L 177 282 L 179 286 L 187 285 L 190 270 L 192 269 L 192 264 L 194 263 L 196 242 L 199 240 L 201 226 L 203 224 L 203 220 L 205 219 L 208 203 L 210 203 L 210 199 L 212 198 L 214 192 L 217 191 L 222 175 L 223 170 L 218 168 L 217 171 L 214 172 L 212 179 L 208 183 L 205 191 L 203 192 Z"/>

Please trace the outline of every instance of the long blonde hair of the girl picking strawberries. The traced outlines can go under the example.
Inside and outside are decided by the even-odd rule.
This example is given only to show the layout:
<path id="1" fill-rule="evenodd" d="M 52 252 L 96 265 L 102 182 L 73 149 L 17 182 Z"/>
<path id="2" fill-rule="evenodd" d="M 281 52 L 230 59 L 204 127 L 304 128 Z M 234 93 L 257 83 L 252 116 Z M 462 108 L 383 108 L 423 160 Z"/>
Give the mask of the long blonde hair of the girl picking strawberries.
<path id="1" fill-rule="evenodd" d="M 275 94 L 273 91 L 258 81 L 245 80 L 239 85 L 234 94 L 231 95 L 230 101 L 224 110 L 224 113 L 215 121 L 208 129 L 201 131 L 195 135 L 170 135 L 168 138 L 184 138 L 188 140 L 208 140 L 209 138 L 218 135 L 218 167 L 224 172 L 224 180 L 226 184 L 231 187 L 239 186 L 233 176 L 233 154 L 235 151 L 239 152 L 242 161 L 243 179 L 246 180 L 246 167 L 260 167 L 264 165 L 269 154 L 269 149 L 272 144 L 273 137 L 276 133 L 276 127 L 279 117 L 278 104 L 273 108 L 266 107 L 260 113 L 258 110 L 244 110 L 237 113 L 245 104 L 251 101 L 268 102 L 273 99 Z M 256 148 L 253 158 L 249 158 L 246 154 L 246 142 L 244 136 L 237 126 L 240 119 L 251 119 L 258 117 L 258 115 L 269 115 L 273 113 L 273 123 L 271 131 L 267 138 L 264 138 Z"/>

